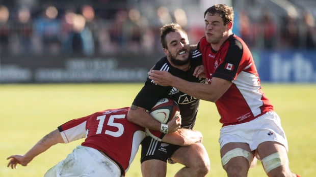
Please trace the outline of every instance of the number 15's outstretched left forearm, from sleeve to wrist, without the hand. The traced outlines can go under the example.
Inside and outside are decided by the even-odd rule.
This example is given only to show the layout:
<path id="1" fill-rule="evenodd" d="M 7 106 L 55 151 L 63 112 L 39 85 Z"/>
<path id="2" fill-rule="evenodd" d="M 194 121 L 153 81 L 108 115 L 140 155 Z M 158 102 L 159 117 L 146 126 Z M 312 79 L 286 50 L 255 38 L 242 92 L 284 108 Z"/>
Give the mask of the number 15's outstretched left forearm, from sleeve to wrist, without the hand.
<path id="1" fill-rule="evenodd" d="M 23 161 L 25 163 L 29 163 L 34 159 L 34 157 L 45 152 L 51 146 L 54 146 L 58 143 L 64 143 L 64 141 L 59 130 L 56 129 L 45 135 L 42 139 L 40 139 L 36 143 L 36 145 L 24 155 Z"/>

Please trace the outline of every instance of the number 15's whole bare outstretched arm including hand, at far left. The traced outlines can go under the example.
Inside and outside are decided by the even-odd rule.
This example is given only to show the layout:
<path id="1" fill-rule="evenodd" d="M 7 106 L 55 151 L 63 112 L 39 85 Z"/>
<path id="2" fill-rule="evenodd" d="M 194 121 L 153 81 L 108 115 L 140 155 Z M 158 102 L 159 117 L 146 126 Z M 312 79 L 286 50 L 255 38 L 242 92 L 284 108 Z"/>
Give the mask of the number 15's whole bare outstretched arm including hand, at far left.
<path id="1" fill-rule="evenodd" d="M 58 143 L 64 143 L 64 140 L 59 132 L 58 129 L 48 133 L 42 139 L 40 139 L 34 147 L 29 150 L 25 155 L 12 155 L 7 158 L 10 159 L 8 163 L 8 167 L 17 168 L 17 164 L 21 164 L 22 166 L 27 166 L 34 157 L 38 156 L 39 154 L 45 152 L 51 146 L 54 146 Z"/>

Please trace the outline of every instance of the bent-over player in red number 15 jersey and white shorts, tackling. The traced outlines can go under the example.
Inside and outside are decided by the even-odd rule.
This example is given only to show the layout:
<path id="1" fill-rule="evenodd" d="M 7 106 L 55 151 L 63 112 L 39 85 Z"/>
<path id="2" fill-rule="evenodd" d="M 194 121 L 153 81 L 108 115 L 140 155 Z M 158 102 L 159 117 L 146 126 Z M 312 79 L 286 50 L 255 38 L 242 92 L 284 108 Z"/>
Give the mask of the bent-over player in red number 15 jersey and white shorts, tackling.
<path id="1" fill-rule="evenodd" d="M 17 168 L 17 164 L 27 166 L 51 146 L 86 138 L 81 146 L 77 146 L 44 176 L 125 176 L 141 141 L 146 137 L 144 127 L 127 120 L 128 110 L 129 107 L 104 110 L 70 120 L 45 135 L 26 154 L 8 157 L 8 167 Z M 181 117 L 172 121 L 180 123 Z M 201 140 L 199 131 L 189 129 L 178 129 L 162 138 L 164 142 L 179 146 L 189 146 Z"/>

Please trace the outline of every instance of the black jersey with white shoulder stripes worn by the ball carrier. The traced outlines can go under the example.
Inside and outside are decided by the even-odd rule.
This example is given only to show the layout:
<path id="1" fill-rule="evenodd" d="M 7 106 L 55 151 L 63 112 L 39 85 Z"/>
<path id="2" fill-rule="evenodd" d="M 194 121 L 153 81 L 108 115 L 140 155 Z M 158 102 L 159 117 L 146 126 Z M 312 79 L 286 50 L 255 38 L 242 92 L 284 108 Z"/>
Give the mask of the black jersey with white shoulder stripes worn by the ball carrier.
<path id="1" fill-rule="evenodd" d="M 195 55 L 195 52 L 192 52 L 192 60 L 189 70 L 186 72 L 173 67 L 167 57 L 161 58 L 154 66 L 154 70 L 166 70 L 172 75 L 179 77 L 181 79 L 190 81 L 190 82 L 200 82 L 204 83 L 204 78 L 196 78 L 193 76 L 194 69 L 202 64 L 202 57 L 198 53 Z M 134 99 L 133 104 L 138 107 L 150 110 L 159 99 L 161 98 L 170 98 L 175 100 L 179 104 L 180 115 L 181 115 L 181 127 L 192 129 L 195 124 L 195 119 L 197 111 L 199 108 L 199 99 L 194 98 L 190 95 L 187 95 L 174 87 L 171 86 L 160 86 L 152 83 L 152 80 L 147 78 L 144 87 L 138 93 Z"/>

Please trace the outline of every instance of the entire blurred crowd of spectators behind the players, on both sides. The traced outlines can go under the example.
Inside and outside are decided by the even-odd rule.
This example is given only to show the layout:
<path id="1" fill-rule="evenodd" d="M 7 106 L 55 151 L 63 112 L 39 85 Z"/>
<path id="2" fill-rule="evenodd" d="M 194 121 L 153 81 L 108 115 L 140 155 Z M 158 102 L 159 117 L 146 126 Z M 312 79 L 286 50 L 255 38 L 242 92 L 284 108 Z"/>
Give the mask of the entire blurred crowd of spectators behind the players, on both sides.
<path id="1" fill-rule="evenodd" d="M 80 8 L 47 6 L 34 10 L 27 6 L 9 9 L 0 5 L 0 54 L 146 54 L 161 51 L 159 28 L 170 22 L 177 22 L 187 29 L 189 39 L 199 40 L 203 36 L 203 26 L 188 26 L 182 9 L 171 13 L 162 6 L 153 13 L 149 19 L 133 8 L 111 11 L 83 5 Z M 288 13 L 281 24 L 272 18 L 271 12 L 261 14 L 260 19 L 253 21 L 245 11 L 238 11 L 234 28 L 248 46 L 316 49 L 315 19 L 308 11 L 302 18 Z"/>

